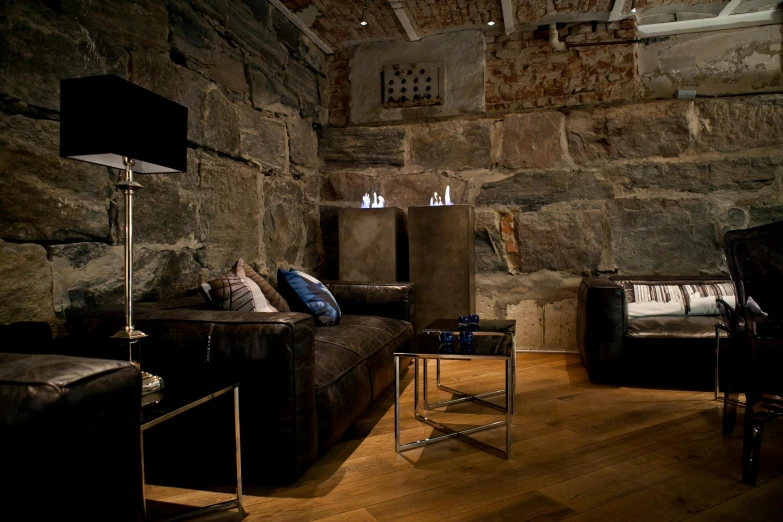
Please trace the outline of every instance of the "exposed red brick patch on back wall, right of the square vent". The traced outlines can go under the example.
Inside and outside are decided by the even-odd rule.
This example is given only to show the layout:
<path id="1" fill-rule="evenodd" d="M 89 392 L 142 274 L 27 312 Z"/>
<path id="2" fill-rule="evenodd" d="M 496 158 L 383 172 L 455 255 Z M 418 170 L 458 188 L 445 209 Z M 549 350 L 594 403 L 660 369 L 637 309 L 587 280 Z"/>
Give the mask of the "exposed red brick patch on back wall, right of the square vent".
<path id="1" fill-rule="evenodd" d="M 560 29 L 568 44 L 631 40 L 633 20 Z M 555 52 L 548 30 L 487 35 L 487 112 L 564 107 L 638 97 L 634 44 Z"/>

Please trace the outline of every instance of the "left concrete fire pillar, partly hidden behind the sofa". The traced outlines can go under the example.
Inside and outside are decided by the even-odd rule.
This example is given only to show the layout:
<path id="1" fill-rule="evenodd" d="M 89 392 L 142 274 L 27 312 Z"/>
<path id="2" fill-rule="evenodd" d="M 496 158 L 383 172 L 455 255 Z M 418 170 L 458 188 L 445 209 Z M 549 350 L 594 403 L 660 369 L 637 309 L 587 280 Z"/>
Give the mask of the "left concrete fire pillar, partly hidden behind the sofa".
<path id="1" fill-rule="evenodd" d="M 402 209 L 343 208 L 337 214 L 340 280 L 408 280 L 408 238 Z"/>

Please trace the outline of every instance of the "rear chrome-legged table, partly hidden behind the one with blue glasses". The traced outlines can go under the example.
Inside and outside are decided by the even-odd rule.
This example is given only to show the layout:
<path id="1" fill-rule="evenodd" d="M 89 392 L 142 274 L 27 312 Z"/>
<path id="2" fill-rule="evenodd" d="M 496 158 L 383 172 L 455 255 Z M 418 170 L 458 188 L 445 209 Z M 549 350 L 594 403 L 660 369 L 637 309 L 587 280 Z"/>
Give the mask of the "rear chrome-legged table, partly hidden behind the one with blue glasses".
<path id="1" fill-rule="evenodd" d="M 517 350 L 517 343 L 516 343 L 516 331 L 517 331 L 517 322 L 513 319 L 482 319 L 479 322 L 478 329 L 471 330 L 473 332 L 473 337 L 479 337 L 479 336 L 489 336 L 489 337 L 503 337 L 503 342 L 508 343 L 511 345 L 511 349 L 514 353 L 516 353 Z M 454 336 L 456 337 L 459 332 L 459 324 L 457 323 L 456 319 L 436 319 L 435 321 L 428 324 L 424 329 L 422 329 L 422 333 L 429 334 L 429 335 L 440 335 L 441 332 L 452 332 Z M 516 389 L 516 379 L 517 379 L 517 361 L 516 357 L 512 358 L 512 370 L 513 373 L 511 375 L 511 378 L 513 379 L 513 385 Z M 435 386 L 442 391 L 445 391 L 447 393 L 451 393 L 452 395 L 456 395 L 456 399 L 451 399 L 448 401 L 441 401 L 441 402 L 429 402 L 429 392 L 427 389 L 428 386 L 428 375 L 427 375 L 427 361 L 424 361 L 424 386 L 423 386 L 423 392 L 424 392 L 424 407 L 426 409 L 433 409 L 433 408 L 439 408 L 441 406 L 448 406 L 449 404 L 454 404 L 458 402 L 464 402 L 464 401 L 474 401 L 479 402 L 484 406 L 488 406 L 490 408 L 497 408 L 497 406 L 491 402 L 484 401 L 483 399 L 486 399 L 488 397 L 495 397 L 497 395 L 502 395 L 505 393 L 505 390 L 494 390 L 486 393 L 480 393 L 477 395 L 468 395 L 466 393 L 463 393 L 459 390 L 456 390 L 454 388 L 450 388 L 446 385 L 444 385 L 441 382 L 441 373 L 440 373 L 440 360 L 435 361 Z M 512 413 L 514 413 L 514 401 L 512 399 L 511 401 L 511 408 Z"/>

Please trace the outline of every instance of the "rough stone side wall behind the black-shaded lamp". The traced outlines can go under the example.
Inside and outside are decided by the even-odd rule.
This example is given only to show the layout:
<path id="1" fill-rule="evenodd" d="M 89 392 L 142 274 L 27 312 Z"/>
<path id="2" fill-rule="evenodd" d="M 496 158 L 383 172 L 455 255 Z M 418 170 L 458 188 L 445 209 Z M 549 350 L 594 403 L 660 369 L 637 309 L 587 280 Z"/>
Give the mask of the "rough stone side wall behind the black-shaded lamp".
<path id="1" fill-rule="evenodd" d="M 118 172 L 59 157 L 61 78 L 188 107 L 187 172 L 139 176 L 137 300 L 239 257 L 317 270 L 325 57 L 266 0 L 12 1 L 0 20 L 0 323 L 122 303 Z"/>

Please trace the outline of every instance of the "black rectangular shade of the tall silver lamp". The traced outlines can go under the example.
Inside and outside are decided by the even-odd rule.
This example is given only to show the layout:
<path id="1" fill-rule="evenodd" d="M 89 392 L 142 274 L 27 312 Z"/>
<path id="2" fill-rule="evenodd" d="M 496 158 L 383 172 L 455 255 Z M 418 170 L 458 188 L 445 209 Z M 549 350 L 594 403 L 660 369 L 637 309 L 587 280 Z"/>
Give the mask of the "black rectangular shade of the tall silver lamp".
<path id="1" fill-rule="evenodd" d="M 188 109 L 118 76 L 60 82 L 60 156 L 154 174 L 187 170 Z"/>

